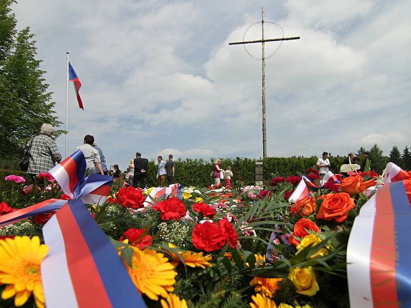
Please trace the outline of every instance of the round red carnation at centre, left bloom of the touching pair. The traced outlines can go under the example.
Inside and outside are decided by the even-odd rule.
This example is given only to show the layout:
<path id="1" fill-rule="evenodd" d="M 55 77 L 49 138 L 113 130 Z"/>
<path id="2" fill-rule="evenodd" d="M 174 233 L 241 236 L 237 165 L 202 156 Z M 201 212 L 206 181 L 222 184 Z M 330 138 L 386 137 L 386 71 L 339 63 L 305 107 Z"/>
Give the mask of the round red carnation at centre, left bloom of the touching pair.
<path id="1" fill-rule="evenodd" d="M 191 235 L 194 247 L 206 252 L 221 249 L 227 243 L 227 233 L 211 221 L 196 225 Z"/>

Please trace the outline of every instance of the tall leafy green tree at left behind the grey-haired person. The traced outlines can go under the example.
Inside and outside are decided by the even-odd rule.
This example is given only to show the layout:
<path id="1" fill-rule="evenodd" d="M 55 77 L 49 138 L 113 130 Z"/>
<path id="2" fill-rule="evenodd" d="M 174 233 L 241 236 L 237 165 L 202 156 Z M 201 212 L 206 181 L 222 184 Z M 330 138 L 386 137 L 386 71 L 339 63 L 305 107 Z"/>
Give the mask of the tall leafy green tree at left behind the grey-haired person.
<path id="1" fill-rule="evenodd" d="M 0 158 L 20 157 L 43 123 L 61 123 L 53 115 L 55 103 L 47 92 L 42 61 L 35 59 L 34 35 L 28 27 L 16 34 L 12 2 L 0 0 Z"/>

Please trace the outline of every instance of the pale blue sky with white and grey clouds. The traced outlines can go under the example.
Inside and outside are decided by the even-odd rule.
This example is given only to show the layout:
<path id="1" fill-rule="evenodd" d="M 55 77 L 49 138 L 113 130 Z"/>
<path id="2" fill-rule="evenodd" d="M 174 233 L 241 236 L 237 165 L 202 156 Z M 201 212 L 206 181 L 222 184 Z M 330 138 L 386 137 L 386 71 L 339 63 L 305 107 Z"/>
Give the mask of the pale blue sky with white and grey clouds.
<path id="1" fill-rule="evenodd" d="M 20 1 L 18 27 L 36 35 L 65 122 L 66 51 L 85 110 L 69 85 L 68 152 L 96 137 L 107 163 L 143 157 L 263 154 L 261 61 L 242 41 L 261 20 L 286 41 L 266 60 L 268 156 L 345 155 L 411 140 L 408 1 Z M 260 25 L 247 31 L 257 40 Z M 266 24 L 265 36 L 278 37 Z M 278 44 L 266 43 L 266 55 Z M 261 45 L 248 50 L 260 57 Z M 65 124 L 62 125 L 65 128 Z M 65 152 L 65 137 L 58 139 Z"/>

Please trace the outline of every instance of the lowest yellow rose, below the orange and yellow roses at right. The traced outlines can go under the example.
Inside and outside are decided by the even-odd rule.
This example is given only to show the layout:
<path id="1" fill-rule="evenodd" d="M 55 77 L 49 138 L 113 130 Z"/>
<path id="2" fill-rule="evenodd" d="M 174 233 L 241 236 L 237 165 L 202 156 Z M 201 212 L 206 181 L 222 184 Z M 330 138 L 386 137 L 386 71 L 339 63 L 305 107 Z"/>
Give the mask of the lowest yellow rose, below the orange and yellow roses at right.
<path id="1" fill-rule="evenodd" d="M 311 266 L 290 268 L 288 279 L 294 284 L 298 294 L 313 296 L 320 290 Z"/>

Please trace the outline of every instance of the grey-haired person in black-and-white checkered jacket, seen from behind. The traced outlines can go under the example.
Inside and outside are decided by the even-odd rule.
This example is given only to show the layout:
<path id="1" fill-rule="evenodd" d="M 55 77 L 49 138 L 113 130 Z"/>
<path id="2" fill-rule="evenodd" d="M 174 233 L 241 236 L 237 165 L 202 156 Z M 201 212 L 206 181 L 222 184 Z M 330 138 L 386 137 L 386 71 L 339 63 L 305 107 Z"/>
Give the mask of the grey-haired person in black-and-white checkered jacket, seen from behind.
<path id="1" fill-rule="evenodd" d="M 54 140 L 51 139 L 53 126 L 44 123 L 40 133 L 33 137 L 25 146 L 25 153 L 29 154 L 27 173 L 34 178 L 43 172 L 48 172 L 55 163 L 60 163 L 61 153 Z"/>

